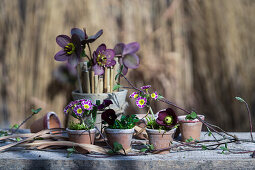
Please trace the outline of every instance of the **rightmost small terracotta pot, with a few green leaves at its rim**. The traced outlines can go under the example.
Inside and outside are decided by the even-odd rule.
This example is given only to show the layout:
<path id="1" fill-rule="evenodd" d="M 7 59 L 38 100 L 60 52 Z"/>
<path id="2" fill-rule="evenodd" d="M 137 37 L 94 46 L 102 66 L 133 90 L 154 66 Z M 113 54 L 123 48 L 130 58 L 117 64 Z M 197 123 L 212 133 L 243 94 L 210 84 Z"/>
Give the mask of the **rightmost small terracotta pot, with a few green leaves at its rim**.
<path id="1" fill-rule="evenodd" d="M 205 119 L 203 115 L 198 115 L 202 120 Z M 180 130 L 182 135 L 182 141 L 185 142 L 187 139 L 200 140 L 200 134 L 202 130 L 202 122 L 198 119 L 187 120 L 186 115 L 178 116 L 178 121 L 180 123 Z"/>

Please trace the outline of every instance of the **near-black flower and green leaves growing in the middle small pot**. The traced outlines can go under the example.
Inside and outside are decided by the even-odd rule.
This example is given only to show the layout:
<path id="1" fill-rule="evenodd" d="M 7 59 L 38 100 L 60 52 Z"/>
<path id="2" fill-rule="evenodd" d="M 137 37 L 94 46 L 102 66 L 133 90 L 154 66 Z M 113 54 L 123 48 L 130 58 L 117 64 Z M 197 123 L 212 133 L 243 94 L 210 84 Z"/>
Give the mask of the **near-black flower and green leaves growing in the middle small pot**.
<path id="1" fill-rule="evenodd" d="M 136 115 L 122 115 L 120 120 L 117 119 L 117 115 L 113 109 L 104 111 L 101 115 L 103 124 L 109 129 L 132 129 L 139 121 Z"/>

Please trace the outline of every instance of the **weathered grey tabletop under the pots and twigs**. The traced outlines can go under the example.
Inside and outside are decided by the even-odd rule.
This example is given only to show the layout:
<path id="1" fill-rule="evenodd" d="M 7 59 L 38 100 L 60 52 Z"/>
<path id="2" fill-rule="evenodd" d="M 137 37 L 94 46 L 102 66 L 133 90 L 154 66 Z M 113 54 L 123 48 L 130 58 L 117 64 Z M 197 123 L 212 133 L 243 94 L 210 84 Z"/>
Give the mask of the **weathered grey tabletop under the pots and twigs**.
<path id="1" fill-rule="evenodd" d="M 232 134 L 240 139 L 250 139 L 246 132 Z M 213 138 L 202 132 L 203 139 Z M 228 147 L 236 151 L 255 150 L 255 143 L 235 143 Z M 221 154 L 221 151 L 179 148 L 165 155 L 98 158 L 96 155 L 72 154 L 67 158 L 66 150 L 8 150 L 0 153 L 0 169 L 255 169 L 255 158 L 251 157 L 251 153 Z"/>

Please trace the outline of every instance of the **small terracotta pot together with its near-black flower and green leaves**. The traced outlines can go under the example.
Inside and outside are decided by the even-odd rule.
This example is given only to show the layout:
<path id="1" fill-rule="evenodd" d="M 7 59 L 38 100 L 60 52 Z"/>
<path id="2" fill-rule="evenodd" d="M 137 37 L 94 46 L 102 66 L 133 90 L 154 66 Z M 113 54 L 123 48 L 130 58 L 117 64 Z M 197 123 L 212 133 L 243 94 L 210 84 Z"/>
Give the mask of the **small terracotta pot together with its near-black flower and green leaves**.
<path id="1" fill-rule="evenodd" d="M 123 149 L 124 152 L 131 150 L 131 142 L 134 133 L 134 126 L 139 121 L 136 115 L 122 115 L 120 120 L 113 109 L 104 111 L 101 115 L 103 124 L 106 125 L 105 134 L 112 152 Z M 119 149 L 116 149 L 119 146 Z"/>

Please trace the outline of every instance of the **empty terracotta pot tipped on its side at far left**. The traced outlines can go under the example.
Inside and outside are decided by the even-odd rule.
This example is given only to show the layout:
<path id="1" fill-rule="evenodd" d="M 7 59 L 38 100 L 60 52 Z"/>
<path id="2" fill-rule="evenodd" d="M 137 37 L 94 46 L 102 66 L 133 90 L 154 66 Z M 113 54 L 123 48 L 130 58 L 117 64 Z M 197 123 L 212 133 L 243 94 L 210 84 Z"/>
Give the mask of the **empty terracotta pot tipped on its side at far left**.
<path id="1" fill-rule="evenodd" d="M 30 131 L 32 133 L 37 133 L 41 130 L 51 128 L 61 128 L 60 120 L 54 112 L 48 112 L 40 119 L 35 120 L 30 126 Z"/>

